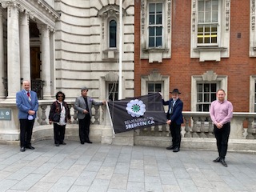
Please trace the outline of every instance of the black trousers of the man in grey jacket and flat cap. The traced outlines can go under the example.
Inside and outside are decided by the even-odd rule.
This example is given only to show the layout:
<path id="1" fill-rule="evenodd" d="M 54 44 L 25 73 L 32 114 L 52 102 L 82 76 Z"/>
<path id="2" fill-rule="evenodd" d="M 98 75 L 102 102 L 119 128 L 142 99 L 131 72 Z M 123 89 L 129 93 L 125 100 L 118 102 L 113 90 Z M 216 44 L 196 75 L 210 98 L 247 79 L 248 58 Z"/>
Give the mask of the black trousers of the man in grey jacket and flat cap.
<path id="1" fill-rule="evenodd" d="M 90 142 L 90 114 L 86 114 L 83 119 L 78 119 L 79 122 L 79 138 L 80 142 Z"/>

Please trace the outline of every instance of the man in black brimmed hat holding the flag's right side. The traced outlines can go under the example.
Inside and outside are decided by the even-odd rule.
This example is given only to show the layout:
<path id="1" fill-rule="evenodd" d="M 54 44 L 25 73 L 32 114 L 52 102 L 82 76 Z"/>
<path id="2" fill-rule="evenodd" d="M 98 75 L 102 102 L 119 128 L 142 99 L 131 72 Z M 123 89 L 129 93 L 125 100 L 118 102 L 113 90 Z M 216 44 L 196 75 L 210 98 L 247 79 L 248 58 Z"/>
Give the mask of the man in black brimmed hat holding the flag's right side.
<path id="1" fill-rule="evenodd" d="M 162 99 L 162 105 L 169 106 L 166 117 L 167 117 L 167 124 L 170 125 L 170 134 L 172 136 L 172 145 L 166 147 L 166 150 L 173 150 L 174 152 L 178 152 L 181 146 L 181 124 L 183 123 L 182 117 L 182 109 L 183 109 L 183 102 L 180 100 L 179 94 L 181 94 L 178 89 L 174 89 L 170 92 L 172 98 L 169 101 L 165 101 Z"/>

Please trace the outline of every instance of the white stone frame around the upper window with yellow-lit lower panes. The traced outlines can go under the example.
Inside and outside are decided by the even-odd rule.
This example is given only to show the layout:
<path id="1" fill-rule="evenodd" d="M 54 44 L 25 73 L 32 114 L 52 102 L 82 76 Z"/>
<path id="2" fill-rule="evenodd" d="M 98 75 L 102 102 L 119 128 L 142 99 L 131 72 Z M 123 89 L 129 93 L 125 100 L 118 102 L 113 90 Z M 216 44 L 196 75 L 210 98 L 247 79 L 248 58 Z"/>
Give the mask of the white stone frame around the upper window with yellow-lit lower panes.
<path id="1" fill-rule="evenodd" d="M 218 7 L 218 43 L 198 44 L 198 0 L 191 0 L 190 58 L 199 62 L 230 57 L 230 0 L 219 0 Z"/>

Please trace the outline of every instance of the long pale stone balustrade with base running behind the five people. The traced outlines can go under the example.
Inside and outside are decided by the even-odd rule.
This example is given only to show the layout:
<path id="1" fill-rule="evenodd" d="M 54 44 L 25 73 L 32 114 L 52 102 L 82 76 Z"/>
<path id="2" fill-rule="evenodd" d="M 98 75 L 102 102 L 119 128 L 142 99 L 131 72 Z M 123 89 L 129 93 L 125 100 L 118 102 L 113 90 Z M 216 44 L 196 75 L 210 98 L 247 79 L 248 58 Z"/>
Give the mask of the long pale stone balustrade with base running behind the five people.
<path id="1" fill-rule="evenodd" d="M 40 100 L 38 118 L 34 123 L 33 141 L 53 139 L 53 125 L 49 124 L 50 105 L 54 100 Z M 77 111 L 74 99 L 66 99 L 70 106 L 71 123 L 66 125 L 66 140 L 79 141 Z M 15 102 L 2 102 L 1 106 L 11 110 L 11 121 L 0 121 L 0 142 L 19 142 L 18 109 Z M 93 106 L 90 126 L 92 142 L 116 145 L 169 146 L 170 127 L 150 126 L 145 129 L 114 134 L 106 106 Z M 216 150 L 214 125 L 207 112 L 184 111 L 182 124 L 182 148 Z M 229 149 L 256 152 L 256 113 L 234 113 L 231 120 Z"/>

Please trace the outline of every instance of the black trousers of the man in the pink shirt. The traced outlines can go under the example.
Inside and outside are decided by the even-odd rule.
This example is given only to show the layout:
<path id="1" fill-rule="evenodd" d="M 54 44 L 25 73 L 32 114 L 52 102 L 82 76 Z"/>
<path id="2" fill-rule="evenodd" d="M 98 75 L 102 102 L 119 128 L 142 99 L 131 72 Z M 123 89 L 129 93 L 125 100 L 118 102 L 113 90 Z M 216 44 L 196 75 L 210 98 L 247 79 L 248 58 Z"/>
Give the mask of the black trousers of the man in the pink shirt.
<path id="1" fill-rule="evenodd" d="M 217 126 L 214 125 L 214 134 L 217 141 L 218 156 L 225 158 L 230 136 L 230 122 L 224 124 L 222 129 L 218 129 Z"/>

